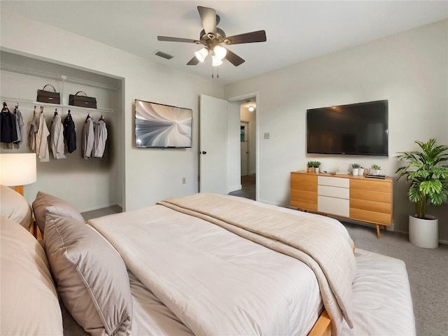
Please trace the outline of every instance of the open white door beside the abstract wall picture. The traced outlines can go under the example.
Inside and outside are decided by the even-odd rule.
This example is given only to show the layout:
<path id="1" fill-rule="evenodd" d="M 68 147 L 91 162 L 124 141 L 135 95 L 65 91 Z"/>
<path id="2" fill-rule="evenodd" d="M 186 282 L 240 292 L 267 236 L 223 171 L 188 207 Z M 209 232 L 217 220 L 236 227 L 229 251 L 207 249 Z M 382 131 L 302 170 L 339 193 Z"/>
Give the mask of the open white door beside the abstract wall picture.
<path id="1" fill-rule="evenodd" d="M 201 94 L 200 193 L 228 193 L 228 102 Z"/>

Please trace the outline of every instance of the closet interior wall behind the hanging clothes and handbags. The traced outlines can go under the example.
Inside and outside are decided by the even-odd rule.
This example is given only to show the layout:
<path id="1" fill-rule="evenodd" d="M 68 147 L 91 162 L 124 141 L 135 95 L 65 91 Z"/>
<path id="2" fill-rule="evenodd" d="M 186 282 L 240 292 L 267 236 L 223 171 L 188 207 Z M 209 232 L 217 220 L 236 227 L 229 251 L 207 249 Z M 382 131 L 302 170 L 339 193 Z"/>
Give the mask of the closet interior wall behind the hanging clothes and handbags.
<path id="1" fill-rule="evenodd" d="M 60 104 L 36 102 L 37 90 L 51 84 L 60 93 Z M 0 146 L 0 153 L 31 153 L 29 127 L 34 106 L 39 113 L 43 106 L 48 130 L 57 113 L 64 120 L 70 110 L 76 127 L 76 151 L 68 153 L 66 159 L 55 159 L 50 151 L 49 162 L 37 160 L 37 181 L 24 186 L 25 198 L 34 201 L 39 190 L 60 197 L 80 211 L 109 207 L 122 202 L 122 181 L 120 162 L 123 160 L 123 90 L 122 80 L 110 78 L 70 66 L 52 64 L 30 57 L 1 52 L 1 102 L 6 102 L 11 112 L 19 105 L 25 123 L 25 141 L 19 149 Z M 45 90 L 51 89 L 50 87 Z M 97 99 L 97 109 L 69 106 L 69 94 L 83 91 Z M 82 157 L 81 139 L 87 115 L 93 120 L 103 116 L 108 138 L 103 158 Z M 48 141 L 50 137 L 48 137 Z M 121 161 L 120 161 L 121 160 Z"/>

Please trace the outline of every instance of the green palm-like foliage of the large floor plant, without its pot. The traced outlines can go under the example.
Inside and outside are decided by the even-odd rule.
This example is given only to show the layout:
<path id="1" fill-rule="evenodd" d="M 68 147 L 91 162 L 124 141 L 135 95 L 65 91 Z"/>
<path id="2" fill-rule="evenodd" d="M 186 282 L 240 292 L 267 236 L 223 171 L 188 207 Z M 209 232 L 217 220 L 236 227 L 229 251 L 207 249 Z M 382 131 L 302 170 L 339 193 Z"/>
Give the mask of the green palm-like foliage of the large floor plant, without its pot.
<path id="1" fill-rule="evenodd" d="M 440 206 L 448 200 L 448 146 L 437 146 L 435 139 L 415 141 L 420 151 L 398 152 L 395 158 L 405 165 L 395 172 L 411 182 L 407 196 L 415 204 L 416 217 L 426 218 L 426 205 Z"/>

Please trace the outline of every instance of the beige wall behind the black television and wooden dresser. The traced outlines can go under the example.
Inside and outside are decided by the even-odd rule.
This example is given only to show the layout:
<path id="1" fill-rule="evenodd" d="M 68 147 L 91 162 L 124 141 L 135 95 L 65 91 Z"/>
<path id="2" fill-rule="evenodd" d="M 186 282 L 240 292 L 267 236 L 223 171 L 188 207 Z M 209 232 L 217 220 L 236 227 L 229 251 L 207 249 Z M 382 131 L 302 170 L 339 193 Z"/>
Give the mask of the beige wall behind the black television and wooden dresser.
<path id="1" fill-rule="evenodd" d="M 393 156 L 416 149 L 414 140 L 448 144 L 448 20 L 225 86 L 225 97 L 244 92 L 259 92 L 260 201 L 288 206 L 289 172 L 314 158 L 328 171 L 345 171 L 356 161 L 377 163 L 395 176 Z M 307 109 L 379 99 L 388 99 L 388 158 L 307 155 Z M 394 183 L 394 229 L 405 232 L 413 211 L 406 191 L 406 183 Z M 440 239 L 448 241 L 448 204 L 433 212 L 440 218 Z"/>

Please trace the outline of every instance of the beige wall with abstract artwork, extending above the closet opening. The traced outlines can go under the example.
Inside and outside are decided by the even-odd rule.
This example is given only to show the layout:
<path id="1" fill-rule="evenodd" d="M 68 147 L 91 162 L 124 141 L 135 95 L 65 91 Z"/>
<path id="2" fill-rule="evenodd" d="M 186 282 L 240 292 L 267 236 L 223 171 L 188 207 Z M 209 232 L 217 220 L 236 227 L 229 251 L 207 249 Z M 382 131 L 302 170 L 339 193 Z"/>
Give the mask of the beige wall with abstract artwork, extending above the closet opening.
<path id="1" fill-rule="evenodd" d="M 118 179 L 110 181 L 120 188 L 116 202 L 125 209 L 135 209 L 154 204 L 158 200 L 197 192 L 198 172 L 198 109 L 199 95 L 223 97 L 223 87 L 211 80 L 204 80 L 167 66 L 154 64 L 68 31 L 29 20 L 8 10 L 1 10 L 0 43 L 2 50 L 59 64 L 102 73 L 123 79 L 123 106 L 117 117 L 117 130 L 123 144 L 113 148 L 118 155 Z M 45 43 L 41 36 L 51 36 Z M 2 83 L 3 84 L 3 83 Z M 134 99 L 169 104 L 193 109 L 193 148 L 143 149 L 134 146 Z M 50 162 L 51 163 L 51 162 Z M 54 164 L 54 162 L 53 162 Z M 38 172 L 39 174 L 39 172 Z M 38 175 L 39 176 L 39 175 Z M 182 178 L 186 177 L 186 184 Z M 33 185 L 25 186 L 25 197 L 32 202 Z M 85 183 L 76 184 L 76 193 L 108 193 L 109 189 Z M 45 190 L 43 190 L 45 191 Z M 81 211 L 88 206 L 73 197 L 73 189 L 60 186 L 59 197 L 73 201 Z"/>

